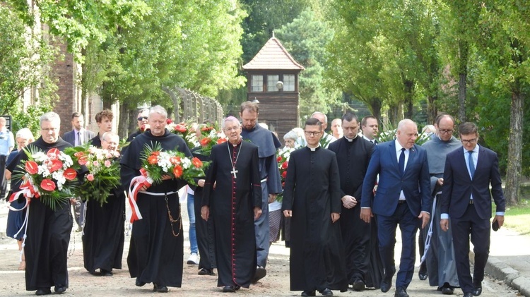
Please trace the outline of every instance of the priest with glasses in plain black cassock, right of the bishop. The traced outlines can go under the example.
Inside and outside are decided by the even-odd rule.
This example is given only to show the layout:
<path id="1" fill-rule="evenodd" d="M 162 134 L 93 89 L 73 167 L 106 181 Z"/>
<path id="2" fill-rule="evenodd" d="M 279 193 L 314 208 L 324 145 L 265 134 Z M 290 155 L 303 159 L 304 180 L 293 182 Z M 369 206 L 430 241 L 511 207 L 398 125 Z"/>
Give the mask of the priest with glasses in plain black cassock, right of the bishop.
<path id="1" fill-rule="evenodd" d="M 322 123 L 305 122 L 307 147 L 290 154 L 282 210 L 291 218 L 290 291 L 333 296 L 346 291 L 341 240 L 341 183 L 334 152 L 319 145 Z"/>

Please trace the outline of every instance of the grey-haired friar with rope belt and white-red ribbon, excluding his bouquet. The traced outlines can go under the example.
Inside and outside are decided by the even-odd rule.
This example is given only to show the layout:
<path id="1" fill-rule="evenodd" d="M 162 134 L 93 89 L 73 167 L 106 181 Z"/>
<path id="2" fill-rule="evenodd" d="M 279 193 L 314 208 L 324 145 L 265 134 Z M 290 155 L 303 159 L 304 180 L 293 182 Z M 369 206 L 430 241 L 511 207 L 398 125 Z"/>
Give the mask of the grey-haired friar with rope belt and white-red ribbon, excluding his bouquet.
<path id="1" fill-rule="evenodd" d="M 145 145 L 160 143 L 163 150 L 179 150 L 192 157 L 186 143 L 165 128 L 167 111 L 155 106 L 149 110 L 151 130 L 132 140 L 122 155 L 122 184 L 129 186 L 131 179 L 140 175 L 141 152 Z M 133 223 L 127 264 L 136 286 L 153 283 L 153 291 L 165 293 L 168 286 L 182 285 L 183 236 L 182 217 L 177 190 L 186 183 L 163 177 L 162 183 L 149 188 L 143 186 L 136 200 L 143 219 Z M 172 220 L 171 220 L 172 218 Z"/>

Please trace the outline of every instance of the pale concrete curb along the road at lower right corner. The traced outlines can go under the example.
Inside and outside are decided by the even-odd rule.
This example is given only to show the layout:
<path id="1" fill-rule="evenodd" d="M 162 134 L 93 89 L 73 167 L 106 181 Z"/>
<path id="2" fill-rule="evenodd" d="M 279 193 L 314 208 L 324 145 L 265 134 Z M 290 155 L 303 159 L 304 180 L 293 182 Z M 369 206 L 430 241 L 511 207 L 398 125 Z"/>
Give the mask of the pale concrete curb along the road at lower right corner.
<path id="1" fill-rule="evenodd" d="M 475 263 L 475 253 L 473 251 L 469 252 L 469 260 L 473 264 Z M 530 297 L 530 279 L 523 277 L 519 271 L 496 257 L 488 257 L 485 273 L 490 274 L 495 279 L 504 281 L 505 284 L 513 289 L 519 290 L 522 296 Z"/>

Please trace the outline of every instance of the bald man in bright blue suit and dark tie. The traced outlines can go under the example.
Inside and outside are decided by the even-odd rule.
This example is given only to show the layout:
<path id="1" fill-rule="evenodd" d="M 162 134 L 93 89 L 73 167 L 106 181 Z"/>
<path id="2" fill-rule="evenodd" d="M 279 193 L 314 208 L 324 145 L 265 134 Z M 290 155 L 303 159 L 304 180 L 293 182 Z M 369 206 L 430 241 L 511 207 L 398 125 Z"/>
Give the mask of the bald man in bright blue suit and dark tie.
<path id="1" fill-rule="evenodd" d="M 418 138 L 418 126 L 404 119 L 398 124 L 396 136 L 396 140 L 375 146 L 363 182 L 360 217 L 369 223 L 375 214 L 385 272 L 382 292 L 389 291 L 396 272 L 394 247 L 399 224 L 402 248 L 394 296 L 408 297 L 406 289 L 411 283 L 416 260 L 418 219 L 422 228 L 429 222 L 432 198 L 427 154 L 423 147 L 414 143 Z M 379 183 L 374 197 L 377 174 Z"/>

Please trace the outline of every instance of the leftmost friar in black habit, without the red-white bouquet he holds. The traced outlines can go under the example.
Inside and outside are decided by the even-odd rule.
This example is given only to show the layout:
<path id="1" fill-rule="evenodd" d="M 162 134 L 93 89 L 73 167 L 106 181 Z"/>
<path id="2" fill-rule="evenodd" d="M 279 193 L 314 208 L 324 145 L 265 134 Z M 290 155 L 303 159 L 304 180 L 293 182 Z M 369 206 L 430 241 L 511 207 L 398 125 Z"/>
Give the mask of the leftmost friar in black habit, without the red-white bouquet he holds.
<path id="1" fill-rule="evenodd" d="M 59 138 L 61 119 L 59 114 L 47 112 L 40 117 L 41 137 L 30 143 L 28 150 L 47 152 L 52 148 L 64 151 L 72 145 Z M 20 161 L 28 160 L 28 155 L 20 152 L 7 169 L 16 174 Z M 83 166 L 84 174 L 86 167 Z M 73 202 L 75 200 L 72 199 Z M 68 288 L 68 267 L 66 264 L 68 244 L 72 230 L 70 205 L 67 202 L 52 210 L 40 199 L 32 199 L 28 214 L 28 231 L 25 240 L 25 286 L 36 295 L 64 293 Z"/>

